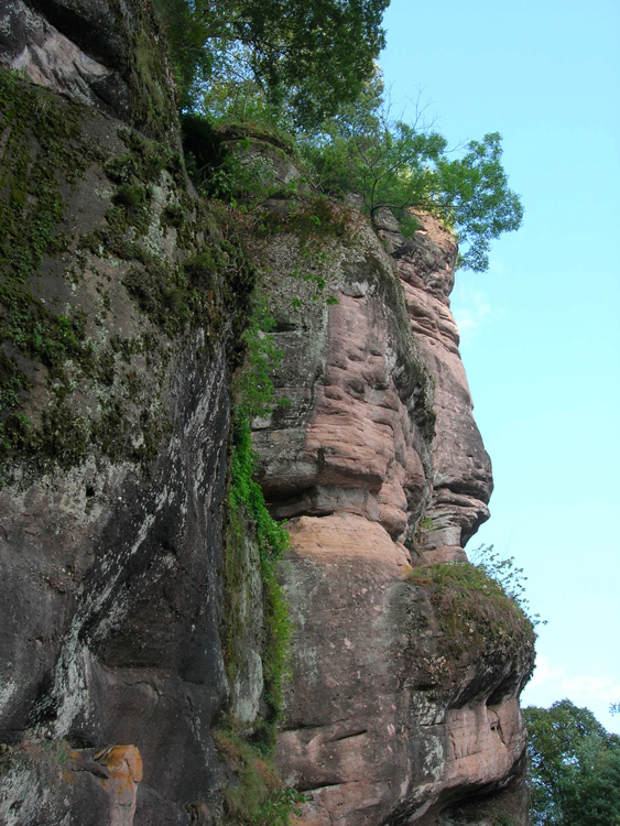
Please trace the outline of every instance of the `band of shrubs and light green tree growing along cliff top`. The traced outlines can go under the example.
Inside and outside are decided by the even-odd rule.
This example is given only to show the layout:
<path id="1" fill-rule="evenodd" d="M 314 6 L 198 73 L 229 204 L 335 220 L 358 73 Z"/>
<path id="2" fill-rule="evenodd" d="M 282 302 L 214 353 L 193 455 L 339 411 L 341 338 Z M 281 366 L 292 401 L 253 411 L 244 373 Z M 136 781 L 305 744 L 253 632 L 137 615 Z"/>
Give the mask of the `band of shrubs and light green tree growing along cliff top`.
<path id="1" fill-rule="evenodd" d="M 491 241 L 521 225 L 523 208 L 509 187 L 497 132 L 450 150 L 424 123 L 391 120 L 379 79 L 335 117 L 306 131 L 274 118 L 255 85 L 244 81 L 244 89 L 252 105 L 242 112 L 230 104 L 235 96 L 220 102 L 215 88 L 205 95 L 202 115 L 183 118 L 188 169 L 209 197 L 233 205 L 243 199 L 244 207 L 248 202 L 255 207 L 285 195 L 269 157 L 278 151 L 289 153 L 303 171 L 290 185 L 290 197 L 300 186 L 330 198 L 357 196 L 373 221 L 390 210 L 404 236 L 417 228 L 416 211 L 436 215 L 455 231 L 464 268 L 486 270 Z M 249 154 L 250 142 L 271 149 L 264 156 Z"/>

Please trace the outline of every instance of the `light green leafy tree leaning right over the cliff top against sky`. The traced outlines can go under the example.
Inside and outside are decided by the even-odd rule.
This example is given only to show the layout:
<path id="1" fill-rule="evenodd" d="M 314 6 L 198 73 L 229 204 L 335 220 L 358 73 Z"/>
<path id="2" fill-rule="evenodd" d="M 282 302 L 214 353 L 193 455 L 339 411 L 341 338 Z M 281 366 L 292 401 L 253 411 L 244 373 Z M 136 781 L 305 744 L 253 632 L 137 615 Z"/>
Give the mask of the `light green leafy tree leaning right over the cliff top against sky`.
<path id="1" fill-rule="evenodd" d="M 325 191 L 361 194 L 371 218 L 390 209 L 405 233 L 412 210 L 434 213 L 456 230 L 465 248 L 461 265 L 486 270 L 491 240 L 518 229 L 523 218 L 501 164 L 501 137 L 486 134 L 450 157 L 447 140 L 420 120 L 392 120 L 376 76 L 312 135 L 306 152 Z"/>

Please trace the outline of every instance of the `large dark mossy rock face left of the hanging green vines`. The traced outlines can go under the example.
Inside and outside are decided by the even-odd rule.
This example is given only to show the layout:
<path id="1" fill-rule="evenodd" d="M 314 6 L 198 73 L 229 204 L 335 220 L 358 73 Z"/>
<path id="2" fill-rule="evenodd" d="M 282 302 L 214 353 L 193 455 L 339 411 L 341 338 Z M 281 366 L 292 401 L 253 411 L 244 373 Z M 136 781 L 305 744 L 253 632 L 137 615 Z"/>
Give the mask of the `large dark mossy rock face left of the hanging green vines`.
<path id="1" fill-rule="evenodd" d="M 86 154 L 76 150 L 77 177 L 70 162 L 54 169 L 61 242 L 37 236 L 26 278 L 17 252 L 2 270 L 3 365 L 28 384 L 23 439 L 15 414 L 2 415 L 12 447 L 2 445 L 0 490 L 0 822 L 186 824 L 186 804 L 206 806 L 224 782 L 210 731 L 230 693 L 229 379 L 217 283 L 203 306 L 210 326 L 171 327 L 165 302 L 177 261 L 209 232 L 195 228 L 165 145 L 11 83 L 9 100 L 36 95 Z M 2 115 L 10 161 L 23 123 L 14 107 Z M 41 164 L 40 131 L 21 134 Z M 127 178 L 132 141 L 148 180 Z M 26 229 L 29 210 L 50 215 L 32 193 Z M 19 226 L 2 229 L 18 251 Z"/>

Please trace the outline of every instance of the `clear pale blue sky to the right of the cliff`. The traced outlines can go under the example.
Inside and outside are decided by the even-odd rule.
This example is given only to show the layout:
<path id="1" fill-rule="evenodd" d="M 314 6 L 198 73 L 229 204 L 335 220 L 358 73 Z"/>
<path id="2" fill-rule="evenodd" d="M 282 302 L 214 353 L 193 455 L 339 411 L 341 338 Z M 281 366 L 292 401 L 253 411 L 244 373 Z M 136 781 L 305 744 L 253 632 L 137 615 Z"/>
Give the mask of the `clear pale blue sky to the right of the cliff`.
<path id="1" fill-rule="evenodd" d="M 523 705 L 620 732 L 620 3 L 392 0 L 384 26 L 393 111 L 499 131 L 525 207 L 453 294 L 496 480 L 469 548 L 514 556 L 548 621 Z"/>

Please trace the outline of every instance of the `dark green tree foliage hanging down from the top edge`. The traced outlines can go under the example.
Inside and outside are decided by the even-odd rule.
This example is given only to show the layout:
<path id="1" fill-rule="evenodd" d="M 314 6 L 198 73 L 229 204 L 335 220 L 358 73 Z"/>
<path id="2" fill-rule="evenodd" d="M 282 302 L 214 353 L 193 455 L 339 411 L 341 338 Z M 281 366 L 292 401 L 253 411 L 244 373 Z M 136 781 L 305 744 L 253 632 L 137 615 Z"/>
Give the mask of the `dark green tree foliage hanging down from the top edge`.
<path id="1" fill-rule="evenodd" d="M 390 0 L 156 0 L 184 108 L 205 84 L 252 79 L 316 124 L 355 100 L 384 44 Z"/>

